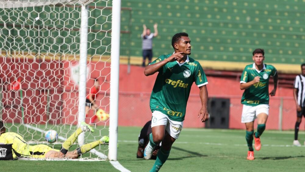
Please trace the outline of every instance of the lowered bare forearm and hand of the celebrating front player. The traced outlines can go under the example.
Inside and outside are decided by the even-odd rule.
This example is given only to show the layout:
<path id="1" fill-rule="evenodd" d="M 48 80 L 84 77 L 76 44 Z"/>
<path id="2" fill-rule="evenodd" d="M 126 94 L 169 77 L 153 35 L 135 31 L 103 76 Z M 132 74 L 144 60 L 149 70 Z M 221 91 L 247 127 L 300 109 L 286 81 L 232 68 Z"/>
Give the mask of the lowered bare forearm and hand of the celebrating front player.
<path id="1" fill-rule="evenodd" d="M 207 100 L 208 100 L 208 90 L 206 89 L 206 85 L 201 86 L 199 91 L 199 96 L 201 100 L 201 109 L 198 112 L 198 118 L 202 115 L 201 122 L 206 122 L 209 119 L 209 113 L 207 111 Z"/>

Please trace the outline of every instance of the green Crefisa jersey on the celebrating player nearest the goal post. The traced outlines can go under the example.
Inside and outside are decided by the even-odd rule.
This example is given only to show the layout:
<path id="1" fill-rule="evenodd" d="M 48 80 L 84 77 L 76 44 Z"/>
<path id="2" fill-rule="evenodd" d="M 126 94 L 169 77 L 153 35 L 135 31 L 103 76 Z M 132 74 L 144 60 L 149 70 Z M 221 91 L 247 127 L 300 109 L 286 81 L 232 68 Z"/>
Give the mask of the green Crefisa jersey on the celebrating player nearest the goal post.
<path id="1" fill-rule="evenodd" d="M 161 55 L 150 64 L 158 63 L 171 55 Z M 165 64 L 159 70 L 152 89 L 150 96 L 151 111 L 160 111 L 167 114 L 173 121 L 183 121 L 193 82 L 198 87 L 208 83 L 198 61 L 187 57 L 185 63 L 182 64 L 179 64 L 178 61 Z"/>

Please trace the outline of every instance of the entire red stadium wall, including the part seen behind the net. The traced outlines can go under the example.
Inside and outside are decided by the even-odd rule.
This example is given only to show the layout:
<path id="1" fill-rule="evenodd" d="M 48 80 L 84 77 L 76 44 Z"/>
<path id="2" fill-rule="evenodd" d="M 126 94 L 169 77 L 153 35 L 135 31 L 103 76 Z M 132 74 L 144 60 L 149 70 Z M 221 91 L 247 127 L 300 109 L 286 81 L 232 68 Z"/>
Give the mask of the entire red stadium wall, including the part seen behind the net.
<path id="1" fill-rule="evenodd" d="M 6 60 L 6 63 L 2 63 Z M 8 105 L 20 104 L 20 92 L 10 90 L 10 83 L 21 77 L 23 91 L 23 107 L 25 123 L 71 123 L 77 124 L 78 93 L 77 85 L 73 82 L 73 72 L 77 61 L 42 61 L 33 63 L 34 60 L 0 58 L 1 62 L 1 85 L 2 103 Z M 4 65 L 5 64 L 5 65 Z M 109 112 L 109 81 L 110 64 L 105 62 L 90 62 L 88 70 L 91 80 L 87 83 L 87 93 L 93 86 L 92 78 L 99 78 L 101 89 L 96 101 L 102 109 Z M 119 86 L 119 126 L 143 126 L 151 119 L 149 109 L 149 98 L 155 82 L 156 74 L 146 77 L 142 67 L 131 66 L 131 72 L 127 73 L 127 65 L 120 65 L 120 86 Z M 230 99 L 229 127 L 243 129 L 244 124 L 240 123 L 242 105 L 240 98 L 242 90 L 239 89 L 239 80 L 225 77 L 207 76 L 209 97 L 222 97 Z M 28 83 L 28 84 L 27 84 Z M 56 89 L 53 89 L 53 88 Z M 184 127 L 200 128 L 204 124 L 197 118 L 201 107 L 199 89 L 192 86 L 191 95 L 187 105 Z M 270 86 L 271 90 L 273 85 Z M 49 92 L 49 93 L 47 93 Z M 17 96 L 16 96 L 17 95 Z M 16 97 L 13 100 L 13 97 Z M 296 121 L 295 103 L 292 97 L 292 89 L 279 87 L 275 97 L 270 98 L 270 114 L 267 121 L 267 129 L 278 130 L 278 114 L 281 98 L 282 107 L 282 129 L 294 128 Z M 49 103 L 47 100 L 49 99 Z M 27 103 L 31 102 L 31 103 Z M 46 107 L 49 105 L 48 113 Z M 21 122 L 19 108 L 8 105 L 2 111 L 2 119 L 8 122 Z M 93 112 L 89 113 L 91 117 Z M 8 118 L 9 117 L 9 118 Z M 89 122 L 89 118 L 86 119 Z M 99 123 L 105 125 L 105 123 Z M 107 125 L 107 123 L 106 123 Z M 302 121 L 301 126 L 304 126 Z M 303 130 L 303 128 L 301 128 Z"/>

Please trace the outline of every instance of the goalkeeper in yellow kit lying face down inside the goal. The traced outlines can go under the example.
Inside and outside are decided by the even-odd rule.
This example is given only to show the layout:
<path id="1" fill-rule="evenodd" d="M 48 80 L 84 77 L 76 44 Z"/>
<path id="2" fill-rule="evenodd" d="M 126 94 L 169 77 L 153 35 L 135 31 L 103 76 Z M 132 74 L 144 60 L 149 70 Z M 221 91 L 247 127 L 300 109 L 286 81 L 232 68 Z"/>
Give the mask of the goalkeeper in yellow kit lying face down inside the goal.
<path id="1" fill-rule="evenodd" d="M 0 121 L 0 144 L 13 144 L 13 158 L 27 157 L 35 159 L 44 159 L 44 158 L 71 158 L 76 159 L 81 154 L 84 154 L 91 149 L 95 148 L 98 145 L 105 144 L 109 142 L 109 137 L 104 136 L 100 140 L 82 145 L 80 148 L 77 148 L 73 152 L 68 152 L 70 146 L 77 139 L 78 135 L 85 131 L 93 132 L 93 128 L 86 123 L 82 123 L 82 126 L 79 127 L 67 140 L 63 143 L 60 150 L 53 149 L 47 145 L 34 145 L 31 146 L 23 140 L 23 137 L 14 132 L 5 133 L 5 127 L 2 121 Z"/>

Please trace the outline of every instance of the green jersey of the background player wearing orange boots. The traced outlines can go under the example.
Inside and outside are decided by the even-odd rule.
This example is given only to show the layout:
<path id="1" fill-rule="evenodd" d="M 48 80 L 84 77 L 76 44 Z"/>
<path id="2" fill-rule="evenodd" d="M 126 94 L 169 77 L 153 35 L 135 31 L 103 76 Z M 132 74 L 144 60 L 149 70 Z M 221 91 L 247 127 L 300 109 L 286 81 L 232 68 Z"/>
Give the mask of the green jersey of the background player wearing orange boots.
<path id="1" fill-rule="evenodd" d="M 240 83 L 250 82 L 254 77 L 259 76 L 257 82 L 247 88 L 242 94 L 242 104 L 256 106 L 259 104 L 269 104 L 269 78 L 276 74 L 276 69 L 272 65 L 264 64 L 264 68 L 258 71 L 255 64 L 249 64 L 242 72 Z"/>

